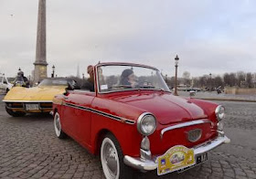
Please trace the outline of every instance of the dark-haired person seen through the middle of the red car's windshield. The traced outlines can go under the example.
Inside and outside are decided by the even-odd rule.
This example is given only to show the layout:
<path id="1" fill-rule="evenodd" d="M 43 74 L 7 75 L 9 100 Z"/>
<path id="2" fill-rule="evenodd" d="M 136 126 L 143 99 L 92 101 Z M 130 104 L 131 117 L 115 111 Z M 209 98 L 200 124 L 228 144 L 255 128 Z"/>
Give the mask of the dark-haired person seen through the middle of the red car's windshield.
<path id="1" fill-rule="evenodd" d="M 120 77 L 120 85 L 130 86 L 132 88 L 136 87 L 137 82 L 135 80 L 135 75 L 132 69 L 123 70 L 123 73 Z"/>

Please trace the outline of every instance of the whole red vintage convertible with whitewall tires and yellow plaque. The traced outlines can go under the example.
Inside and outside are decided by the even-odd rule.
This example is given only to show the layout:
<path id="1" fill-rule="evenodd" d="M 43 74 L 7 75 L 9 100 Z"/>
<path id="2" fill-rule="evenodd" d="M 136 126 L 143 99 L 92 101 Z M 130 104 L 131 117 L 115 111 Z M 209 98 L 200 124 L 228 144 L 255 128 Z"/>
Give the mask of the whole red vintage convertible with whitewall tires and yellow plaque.
<path id="1" fill-rule="evenodd" d="M 229 142 L 224 107 L 174 96 L 159 70 L 130 63 L 93 68 L 94 89 L 73 89 L 53 100 L 54 127 L 101 155 L 106 178 L 130 178 L 133 169 L 158 175 L 208 160 Z"/>

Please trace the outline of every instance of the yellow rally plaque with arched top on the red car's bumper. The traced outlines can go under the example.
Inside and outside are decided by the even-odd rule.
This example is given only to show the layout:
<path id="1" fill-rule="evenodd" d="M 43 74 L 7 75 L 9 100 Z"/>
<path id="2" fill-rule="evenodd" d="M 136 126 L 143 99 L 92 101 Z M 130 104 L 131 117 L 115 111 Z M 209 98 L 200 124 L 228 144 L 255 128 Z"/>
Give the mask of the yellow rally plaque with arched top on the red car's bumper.
<path id="1" fill-rule="evenodd" d="M 170 148 L 165 154 L 157 157 L 156 161 L 158 175 L 172 173 L 196 163 L 194 150 L 183 145 Z"/>

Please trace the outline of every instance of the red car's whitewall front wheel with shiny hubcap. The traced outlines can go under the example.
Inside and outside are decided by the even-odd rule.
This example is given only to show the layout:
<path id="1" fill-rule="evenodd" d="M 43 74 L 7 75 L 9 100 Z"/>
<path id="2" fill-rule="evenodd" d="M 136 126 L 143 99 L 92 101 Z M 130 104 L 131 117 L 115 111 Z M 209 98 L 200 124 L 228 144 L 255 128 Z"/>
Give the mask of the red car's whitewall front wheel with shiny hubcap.
<path id="1" fill-rule="evenodd" d="M 101 166 L 107 179 L 133 177 L 133 169 L 123 163 L 123 152 L 111 133 L 101 143 Z"/>

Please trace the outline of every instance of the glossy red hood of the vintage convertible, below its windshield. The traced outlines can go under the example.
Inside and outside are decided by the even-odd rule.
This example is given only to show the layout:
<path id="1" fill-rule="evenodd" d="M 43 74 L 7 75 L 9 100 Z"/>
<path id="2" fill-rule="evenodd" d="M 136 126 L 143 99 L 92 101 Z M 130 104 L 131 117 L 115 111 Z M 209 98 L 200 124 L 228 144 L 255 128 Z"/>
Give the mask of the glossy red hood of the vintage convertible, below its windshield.
<path id="1" fill-rule="evenodd" d="M 205 112 L 196 104 L 164 92 L 141 92 L 111 99 L 151 112 L 163 125 L 207 118 Z"/>

